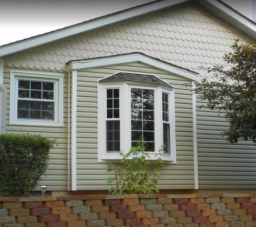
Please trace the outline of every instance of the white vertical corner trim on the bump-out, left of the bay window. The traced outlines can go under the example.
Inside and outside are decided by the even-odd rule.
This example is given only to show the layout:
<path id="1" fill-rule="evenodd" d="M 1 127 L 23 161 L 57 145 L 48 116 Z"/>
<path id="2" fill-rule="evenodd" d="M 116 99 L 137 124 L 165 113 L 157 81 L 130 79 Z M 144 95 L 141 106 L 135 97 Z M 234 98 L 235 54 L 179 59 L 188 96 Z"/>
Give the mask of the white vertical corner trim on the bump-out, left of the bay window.
<path id="1" fill-rule="evenodd" d="M 72 71 L 71 190 L 77 190 L 77 70 Z"/>

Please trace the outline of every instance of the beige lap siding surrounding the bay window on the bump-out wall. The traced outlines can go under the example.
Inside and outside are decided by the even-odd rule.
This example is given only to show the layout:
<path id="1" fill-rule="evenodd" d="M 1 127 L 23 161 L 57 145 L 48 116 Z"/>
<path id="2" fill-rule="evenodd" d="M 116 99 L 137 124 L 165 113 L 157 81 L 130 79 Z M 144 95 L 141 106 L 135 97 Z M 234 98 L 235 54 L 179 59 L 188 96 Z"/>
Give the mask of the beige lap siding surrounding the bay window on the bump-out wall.
<path id="1" fill-rule="evenodd" d="M 107 164 L 98 163 L 97 83 L 119 71 L 155 74 L 175 87 L 177 164 L 162 167 L 161 189 L 193 189 L 192 95 L 181 77 L 140 63 L 78 72 L 77 185 L 78 190 L 107 189 Z"/>

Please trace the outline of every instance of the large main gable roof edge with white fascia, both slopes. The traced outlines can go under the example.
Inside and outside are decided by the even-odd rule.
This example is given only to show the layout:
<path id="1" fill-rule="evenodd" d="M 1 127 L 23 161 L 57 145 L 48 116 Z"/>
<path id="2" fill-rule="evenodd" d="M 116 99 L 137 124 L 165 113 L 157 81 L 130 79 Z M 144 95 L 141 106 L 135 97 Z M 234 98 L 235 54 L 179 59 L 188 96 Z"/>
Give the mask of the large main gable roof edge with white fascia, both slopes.
<path id="1" fill-rule="evenodd" d="M 87 22 L 64 27 L 56 31 L 41 34 L 39 36 L 12 42 L 11 44 L 0 46 L 0 59 L 17 53 L 22 53 L 33 48 L 51 44 L 79 34 L 102 29 L 110 25 L 122 23 L 127 20 L 139 18 L 151 13 L 163 11 L 186 3 L 196 3 L 205 10 L 213 13 L 220 19 L 244 32 L 248 37 L 256 40 L 256 24 L 252 20 L 241 15 L 230 6 L 219 0 L 160 0 L 150 2 L 140 6 L 112 13 L 103 17 L 88 20 Z"/>

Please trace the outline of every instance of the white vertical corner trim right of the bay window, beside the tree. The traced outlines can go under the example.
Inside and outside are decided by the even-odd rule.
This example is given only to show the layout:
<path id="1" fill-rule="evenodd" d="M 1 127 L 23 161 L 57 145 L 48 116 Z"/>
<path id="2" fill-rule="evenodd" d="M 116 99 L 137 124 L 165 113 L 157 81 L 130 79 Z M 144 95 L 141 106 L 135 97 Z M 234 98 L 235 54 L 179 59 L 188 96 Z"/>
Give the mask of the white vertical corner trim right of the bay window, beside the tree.
<path id="1" fill-rule="evenodd" d="M 192 90 L 196 88 L 196 84 L 192 82 Z M 197 159 L 197 121 L 196 121 L 196 93 L 192 94 L 192 115 L 193 115 L 193 150 L 194 150 L 194 175 L 195 189 L 199 189 L 198 185 L 198 159 Z"/>

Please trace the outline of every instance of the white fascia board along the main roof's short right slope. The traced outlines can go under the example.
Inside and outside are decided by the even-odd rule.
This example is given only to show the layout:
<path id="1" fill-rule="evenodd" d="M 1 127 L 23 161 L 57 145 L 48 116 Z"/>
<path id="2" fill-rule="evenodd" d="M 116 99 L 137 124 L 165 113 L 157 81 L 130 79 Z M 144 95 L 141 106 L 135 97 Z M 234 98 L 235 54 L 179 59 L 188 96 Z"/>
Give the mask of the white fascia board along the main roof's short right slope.
<path id="1" fill-rule="evenodd" d="M 243 24 L 244 26 L 248 27 L 249 29 L 256 32 L 256 26 L 251 23 L 250 21 L 246 20 L 244 17 L 240 16 L 237 12 L 233 11 L 230 8 L 227 8 L 222 3 L 216 1 L 216 0 L 205 0 L 209 2 L 210 4 L 216 6 L 218 9 L 222 10 L 223 12 L 227 13 L 229 16 L 231 16 L 233 19 L 237 20 L 239 23 Z"/>

